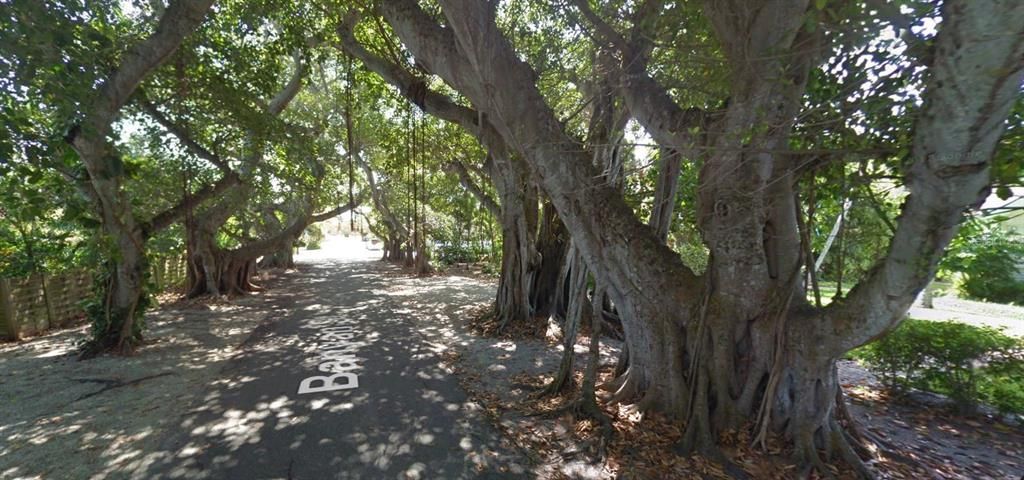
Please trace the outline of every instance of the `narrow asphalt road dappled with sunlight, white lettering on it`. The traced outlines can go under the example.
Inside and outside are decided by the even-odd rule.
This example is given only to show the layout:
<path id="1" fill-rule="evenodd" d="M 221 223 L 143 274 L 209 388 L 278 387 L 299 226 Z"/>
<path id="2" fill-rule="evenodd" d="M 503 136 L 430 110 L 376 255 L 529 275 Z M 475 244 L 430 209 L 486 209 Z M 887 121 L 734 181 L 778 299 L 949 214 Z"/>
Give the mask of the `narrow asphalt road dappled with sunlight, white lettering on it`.
<path id="1" fill-rule="evenodd" d="M 402 306 L 381 294 L 387 277 L 377 255 L 322 255 L 267 296 L 275 320 L 257 329 L 180 430 L 165 433 L 173 456 L 150 476 L 525 478 L 523 456 L 503 446 L 414 321 L 395 313 Z M 354 360 L 325 357 L 332 349 Z M 304 379 L 332 375 L 317 370 L 324 363 L 355 375 L 358 386 L 316 392 L 325 388 L 316 380 L 314 392 L 300 394 Z"/>

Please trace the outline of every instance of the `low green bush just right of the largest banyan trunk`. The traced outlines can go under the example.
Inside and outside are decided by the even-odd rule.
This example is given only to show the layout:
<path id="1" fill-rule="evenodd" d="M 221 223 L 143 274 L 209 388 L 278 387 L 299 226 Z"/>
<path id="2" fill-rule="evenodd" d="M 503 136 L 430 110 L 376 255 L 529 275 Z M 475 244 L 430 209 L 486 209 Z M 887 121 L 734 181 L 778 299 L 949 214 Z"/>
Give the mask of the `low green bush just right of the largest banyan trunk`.
<path id="1" fill-rule="evenodd" d="M 961 411 L 984 401 L 1024 412 L 1024 339 L 1000 330 L 907 319 L 852 353 L 889 387 L 948 395 Z"/>

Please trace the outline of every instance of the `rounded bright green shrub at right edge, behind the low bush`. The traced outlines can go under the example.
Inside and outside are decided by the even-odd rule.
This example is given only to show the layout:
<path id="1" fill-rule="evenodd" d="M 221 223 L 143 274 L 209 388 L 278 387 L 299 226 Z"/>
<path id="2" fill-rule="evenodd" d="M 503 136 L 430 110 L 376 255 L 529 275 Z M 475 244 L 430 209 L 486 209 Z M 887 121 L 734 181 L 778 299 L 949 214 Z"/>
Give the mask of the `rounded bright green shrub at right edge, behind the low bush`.
<path id="1" fill-rule="evenodd" d="M 969 222 L 953 238 L 940 267 L 958 273 L 966 298 L 1024 305 L 1024 242 L 992 222 Z"/>

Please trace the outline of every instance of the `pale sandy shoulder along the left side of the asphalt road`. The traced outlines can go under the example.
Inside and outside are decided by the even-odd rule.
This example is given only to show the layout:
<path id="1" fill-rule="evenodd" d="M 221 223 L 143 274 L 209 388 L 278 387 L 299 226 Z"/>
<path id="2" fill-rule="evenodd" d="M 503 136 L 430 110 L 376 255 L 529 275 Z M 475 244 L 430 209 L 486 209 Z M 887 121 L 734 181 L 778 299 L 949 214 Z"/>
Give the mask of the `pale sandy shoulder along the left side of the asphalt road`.
<path id="1" fill-rule="evenodd" d="M 265 321 L 287 279 L 231 301 L 176 303 L 146 315 L 129 357 L 79 361 L 86 328 L 0 345 L 0 478 L 128 478 L 169 454 L 177 422 Z"/>

